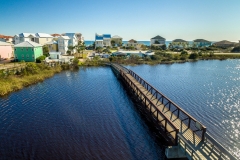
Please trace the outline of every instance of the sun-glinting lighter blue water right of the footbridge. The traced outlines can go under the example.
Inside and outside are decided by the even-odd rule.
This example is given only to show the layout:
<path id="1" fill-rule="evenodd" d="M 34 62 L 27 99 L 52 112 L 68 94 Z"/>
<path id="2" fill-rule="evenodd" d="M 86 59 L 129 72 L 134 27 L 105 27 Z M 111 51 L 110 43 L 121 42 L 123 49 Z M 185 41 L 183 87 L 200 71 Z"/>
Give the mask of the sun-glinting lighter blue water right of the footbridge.
<path id="1" fill-rule="evenodd" d="M 128 66 L 240 157 L 240 60 Z"/>

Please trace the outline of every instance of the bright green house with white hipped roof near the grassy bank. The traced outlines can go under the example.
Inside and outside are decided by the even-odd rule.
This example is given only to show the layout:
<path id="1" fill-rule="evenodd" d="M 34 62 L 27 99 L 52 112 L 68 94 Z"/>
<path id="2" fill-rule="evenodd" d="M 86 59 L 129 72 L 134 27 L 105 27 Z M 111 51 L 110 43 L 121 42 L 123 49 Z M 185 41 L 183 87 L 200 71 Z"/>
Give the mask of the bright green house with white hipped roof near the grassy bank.
<path id="1" fill-rule="evenodd" d="M 16 44 L 14 55 L 16 61 L 35 62 L 36 58 L 43 55 L 42 45 L 32 41 Z"/>

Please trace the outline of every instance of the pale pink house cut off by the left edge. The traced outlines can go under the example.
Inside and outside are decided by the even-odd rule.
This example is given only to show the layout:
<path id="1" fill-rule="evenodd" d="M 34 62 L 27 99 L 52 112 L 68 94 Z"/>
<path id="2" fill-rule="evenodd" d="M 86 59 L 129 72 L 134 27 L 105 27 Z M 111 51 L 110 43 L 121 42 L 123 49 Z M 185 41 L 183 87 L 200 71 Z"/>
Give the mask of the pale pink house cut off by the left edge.
<path id="1" fill-rule="evenodd" d="M 0 60 L 13 57 L 12 44 L 0 41 Z"/>

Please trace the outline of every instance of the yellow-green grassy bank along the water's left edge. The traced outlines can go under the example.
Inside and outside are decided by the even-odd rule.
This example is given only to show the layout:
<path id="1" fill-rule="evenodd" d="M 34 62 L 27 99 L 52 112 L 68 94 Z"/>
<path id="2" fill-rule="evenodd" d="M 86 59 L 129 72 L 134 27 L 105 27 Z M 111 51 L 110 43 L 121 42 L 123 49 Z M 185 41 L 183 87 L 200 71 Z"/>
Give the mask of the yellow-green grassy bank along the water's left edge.
<path id="1" fill-rule="evenodd" d="M 0 96 L 42 82 L 61 70 L 61 66 L 49 67 L 36 63 L 26 63 L 26 67 L 14 70 L 0 70 Z"/>

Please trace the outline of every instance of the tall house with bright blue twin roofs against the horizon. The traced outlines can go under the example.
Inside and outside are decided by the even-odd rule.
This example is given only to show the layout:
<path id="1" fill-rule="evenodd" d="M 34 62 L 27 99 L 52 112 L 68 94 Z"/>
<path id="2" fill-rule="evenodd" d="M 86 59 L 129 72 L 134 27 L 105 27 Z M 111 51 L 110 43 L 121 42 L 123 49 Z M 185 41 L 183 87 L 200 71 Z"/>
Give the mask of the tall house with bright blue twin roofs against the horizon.
<path id="1" fill-rule="evenodd" d="M 111 46 L 111 34 L 95 35 L 95 48 Z"/>

